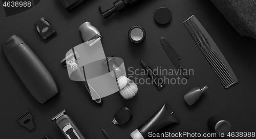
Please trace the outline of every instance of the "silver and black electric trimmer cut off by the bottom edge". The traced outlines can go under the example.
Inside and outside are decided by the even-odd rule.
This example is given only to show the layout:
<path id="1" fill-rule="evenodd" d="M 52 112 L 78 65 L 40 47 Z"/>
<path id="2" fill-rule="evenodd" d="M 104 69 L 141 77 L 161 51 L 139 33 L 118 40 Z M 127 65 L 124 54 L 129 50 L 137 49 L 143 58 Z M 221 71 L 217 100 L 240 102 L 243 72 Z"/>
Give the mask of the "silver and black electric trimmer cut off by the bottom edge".
<path id="1" fill-rule="evenodd" d="M 67 139 L 86 139 L 79 131 L 74 121 L 66 114 L 65 109 L 51 119 L 56 122 Z"/>

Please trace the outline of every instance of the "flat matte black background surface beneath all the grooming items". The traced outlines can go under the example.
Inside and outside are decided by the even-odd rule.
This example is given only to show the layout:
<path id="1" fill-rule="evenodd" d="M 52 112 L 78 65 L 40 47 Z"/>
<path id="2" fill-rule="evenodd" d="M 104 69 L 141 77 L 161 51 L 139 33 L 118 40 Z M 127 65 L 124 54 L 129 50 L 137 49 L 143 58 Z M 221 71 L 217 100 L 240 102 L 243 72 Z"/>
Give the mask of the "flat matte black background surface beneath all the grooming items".
<path id="1" fill-rule="evenodd" d="M 229 121 L 233 132 L 256 131 L 256 40 L 241 37 L 210 1 L 144 0 L 132 8 L 126 8 L 121 13 L 104 19 L 98 6 L 101 5 L 104 11 L 111 8 L 113 2 L 89 0 L 69 13 L 60 1 L 45 0 L 28 11 L 10 17 L 6 17 L 4 7 L 0 6 L 0 42 L 14 34 L 22 37 L 48 68 L 60 91 L 57 96 L 41 105 L 29 94 L 3 52 L 0 52 L 1 138 L 32 139 L 46 135 L 49 138 L 65 138 L 55 122 L 50 120 L 64 108 L 86 138 L 104 138 L 101 128 L 104 128 L 113 139 L 131 138 L 130 133 L 166 102 L 181 122 L 163 130 L 162 133 L 213 133 L 207 127 L 207 119 L 212 115 Z M 167 7 L 172 11 L 172 20 L 167 25 L 157 24 L 154 20 L 154 12 L 159 7 Z M 224 89 L 187 32 L 183 21 L 193 14 L 225 55 L 239 79 L 238 84 Z M 58 33 L 58 36 L 49 43 L 44 42 L 34 27 L 34 22 L 40 17 L 45 17 Z M 129 67 L 133 67 L 134 70 L 143 69 L 140 60 L 152 69 L 156 69 L 157 66 L 161 66 L 161 69 L 176 69 L 160 44 L 159 39 L 163 36 L 179 53 L 181 63 L 186 68 L 194 70 L 194 75 L 190 75 L 186 85 L 170 84 L 160 91 L 155 85 L 138 84 L 139 91 L 134 98 L 124 100 L 117 92 L 103 98 L 103 105 L 97 105 L 91 100 L 81 82 L 69 79 L 66 68 L 60 63 L 68 50 L 83 42 L 78 27 L 86 21 L 90 21 L 101 32 L 105 55 L 115 55 L 124 60 L 127 74 L 131 73 L 127 70 Z M 134 25 L 140 25 L 146 31 L 146 38 L 141 44 L 133 44 L 127 38 L 127 32 Z M 145 75 L 137 77 L 148 78 Z M 201 101 L 195 106 L 187 105 L 184 94 L 193 87 L 204 85 L 209 89 Z M 111 121 L 114 113 L 121 107 L 129 107 L 134 118 L 125 125 L 113 125 Z M 37 128 L 34 132 L 20 126 L 16 120 L 16 117 L 26 110 L 34 117 Z"/>

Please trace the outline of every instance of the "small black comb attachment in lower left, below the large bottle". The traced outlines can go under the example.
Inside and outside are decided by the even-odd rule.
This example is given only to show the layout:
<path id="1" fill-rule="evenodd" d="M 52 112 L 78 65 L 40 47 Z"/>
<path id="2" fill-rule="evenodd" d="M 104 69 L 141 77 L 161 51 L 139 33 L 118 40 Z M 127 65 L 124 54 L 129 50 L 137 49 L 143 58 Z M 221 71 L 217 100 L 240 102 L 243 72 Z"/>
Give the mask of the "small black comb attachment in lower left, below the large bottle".
<path id="1" fill-rule="evenodd" d="M 17 117 L 20 125 L 27 127 L 30 131 L 35 131 L 35 125 L 33 123 L 33 117 L 27 110 L 25 113 Z"/>

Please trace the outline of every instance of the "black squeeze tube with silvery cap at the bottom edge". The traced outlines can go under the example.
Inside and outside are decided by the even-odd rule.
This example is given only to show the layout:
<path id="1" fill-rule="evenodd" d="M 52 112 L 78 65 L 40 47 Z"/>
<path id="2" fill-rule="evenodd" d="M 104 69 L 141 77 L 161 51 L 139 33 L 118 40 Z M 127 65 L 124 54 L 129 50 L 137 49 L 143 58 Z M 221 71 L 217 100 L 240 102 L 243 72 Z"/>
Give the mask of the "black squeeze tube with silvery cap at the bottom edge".
<path id="1" fill-rule="evenodd" d="M 146 139 L 148 132 L 156 133 L 159 130 L 166 128 L 170 125 L 179 123 L 180 119 L 176 116 L 173 109 L 170 108 L 168 103 L 165 103 L 163 107 L 158 110 L 150 119 L 148 119 L 139 128 L 131 133 L 133 139 Z"/>

